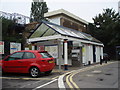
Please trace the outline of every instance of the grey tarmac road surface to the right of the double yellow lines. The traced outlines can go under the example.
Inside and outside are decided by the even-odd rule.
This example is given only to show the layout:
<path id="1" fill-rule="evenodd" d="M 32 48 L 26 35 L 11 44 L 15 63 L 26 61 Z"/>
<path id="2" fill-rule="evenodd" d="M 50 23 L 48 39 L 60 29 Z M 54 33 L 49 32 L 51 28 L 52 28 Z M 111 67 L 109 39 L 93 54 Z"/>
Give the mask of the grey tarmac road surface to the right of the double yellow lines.
<path id="1" fill-rule="evenodd" d="M 118 63 L 78 73 L 73 77 L 73 81 L 79 88 L 118 88 Z"/>

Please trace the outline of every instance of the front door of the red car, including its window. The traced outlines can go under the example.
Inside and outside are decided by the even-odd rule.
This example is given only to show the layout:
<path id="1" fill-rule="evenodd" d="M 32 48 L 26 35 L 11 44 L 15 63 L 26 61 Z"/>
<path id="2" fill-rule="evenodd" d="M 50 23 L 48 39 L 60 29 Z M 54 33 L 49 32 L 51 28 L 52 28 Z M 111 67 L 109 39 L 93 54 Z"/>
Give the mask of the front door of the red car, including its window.
<path id="1" fill-rule="evenodd" d="M 3 61 L 5 72 L 20 72 L 24 52 L 16 52 Z"/>

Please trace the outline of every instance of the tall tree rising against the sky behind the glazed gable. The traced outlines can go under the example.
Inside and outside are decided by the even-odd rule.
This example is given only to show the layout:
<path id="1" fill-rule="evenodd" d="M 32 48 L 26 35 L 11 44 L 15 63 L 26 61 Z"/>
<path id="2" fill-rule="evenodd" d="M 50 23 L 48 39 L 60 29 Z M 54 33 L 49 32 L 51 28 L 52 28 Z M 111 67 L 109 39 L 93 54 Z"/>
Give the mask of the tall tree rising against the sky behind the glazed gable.
<path id="1" fill-rule="evenodd" d="M 33 0 L 31 5 L 31 14 L 30 14 L 30 21 L 37 21 L 46 20 L 44 17 L 44 13 L 48 12 L 46 2 Z"/>

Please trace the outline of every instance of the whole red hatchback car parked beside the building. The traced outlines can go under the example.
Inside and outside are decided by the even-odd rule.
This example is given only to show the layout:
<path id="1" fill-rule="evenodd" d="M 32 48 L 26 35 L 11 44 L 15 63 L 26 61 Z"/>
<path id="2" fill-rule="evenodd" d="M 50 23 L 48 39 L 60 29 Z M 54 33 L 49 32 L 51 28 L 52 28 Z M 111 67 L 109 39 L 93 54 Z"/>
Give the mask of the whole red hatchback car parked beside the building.
<path id="1" fill-rule="evenodd" d="M 49 74 L 54 66 L 54 58 L 47 51 L 17 51 L 2 60 L 3 72 L 29 73 L 32 77 L 38 77 L 41 72 Z"/>

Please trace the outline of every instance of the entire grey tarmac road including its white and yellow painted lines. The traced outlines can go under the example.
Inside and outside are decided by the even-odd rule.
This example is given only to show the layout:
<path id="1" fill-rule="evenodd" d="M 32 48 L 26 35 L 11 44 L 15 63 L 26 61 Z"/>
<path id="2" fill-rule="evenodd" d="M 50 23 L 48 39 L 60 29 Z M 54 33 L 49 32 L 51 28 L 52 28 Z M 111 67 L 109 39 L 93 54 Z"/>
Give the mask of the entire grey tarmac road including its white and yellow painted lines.
<path id="1" fill-rule="evenodd" d="M 82 69 L 68 71 L 67 73 L 53 72 L 48 76 L 44 74 L 39 78 L 31 78 L 25 74 L 7 74 L 1 77 L 2 88 L 39 90 L 39 88 L 78 88 L 78 90 L 118 90 L 118 75 L 120 67 L 118 62 L 103 65 L 90 65 Z"/>

